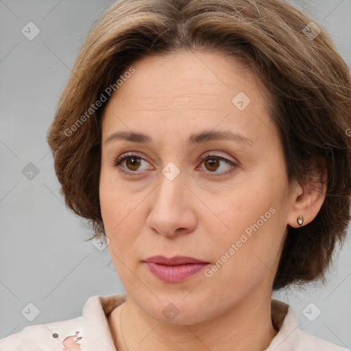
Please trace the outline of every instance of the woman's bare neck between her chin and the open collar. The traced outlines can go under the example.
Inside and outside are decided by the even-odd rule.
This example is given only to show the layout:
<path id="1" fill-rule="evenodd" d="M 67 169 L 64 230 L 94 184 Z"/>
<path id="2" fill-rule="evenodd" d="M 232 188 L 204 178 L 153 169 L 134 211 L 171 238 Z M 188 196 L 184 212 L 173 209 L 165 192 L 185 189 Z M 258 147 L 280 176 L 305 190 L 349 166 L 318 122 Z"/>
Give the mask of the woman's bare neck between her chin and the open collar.
<path id="1" fill-rule="evenodd" d="M 250 294 L 225 313 L 188 325 L 159 322 L 127 295 L 108 323 L 118 351 L 262 351 L 277 334 L 271 322 L 271 294 Z"/>

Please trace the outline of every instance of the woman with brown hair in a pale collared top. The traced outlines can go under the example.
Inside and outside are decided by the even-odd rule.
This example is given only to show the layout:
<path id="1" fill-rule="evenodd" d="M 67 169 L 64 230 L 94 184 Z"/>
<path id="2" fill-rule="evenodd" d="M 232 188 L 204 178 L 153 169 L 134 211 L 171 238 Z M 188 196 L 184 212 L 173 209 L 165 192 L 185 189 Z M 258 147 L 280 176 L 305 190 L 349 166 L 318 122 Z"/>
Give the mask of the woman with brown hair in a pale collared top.
<path id="1" fill-rule="evenodd" d="M 0 350 L 347 350 L 271 295 L 323 280 L 345 239 L 350 96 L 326 31 L 285 1 L 112 4 L 48 141 L 126 293 Z"/>

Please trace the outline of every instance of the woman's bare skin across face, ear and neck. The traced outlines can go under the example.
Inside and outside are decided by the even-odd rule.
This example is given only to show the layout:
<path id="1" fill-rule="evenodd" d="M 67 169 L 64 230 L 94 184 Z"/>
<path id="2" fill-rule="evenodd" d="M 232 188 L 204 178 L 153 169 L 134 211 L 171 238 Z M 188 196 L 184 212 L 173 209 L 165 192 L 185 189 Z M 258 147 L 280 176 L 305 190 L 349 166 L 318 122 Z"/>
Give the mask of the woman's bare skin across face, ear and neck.
<path id="1" fill-rule="evenodd" d="M 289 188 L 269 95 L 239 60 L 180 51 L 132 66 L 136 72 L 112 95 L 102 123 L 101 215 L 128 293 L 108 316 L 114 343 L 119 351 L 265 350 L 277 334 L 271 287 L 287 226 L 298 227 L 299 215 L 304 225 L 312 221 L 324 195 L 298 184 Z M 251 100 L 244 110 L 232 103 L 239 92 Z M 203 130 L 239 132 L 253 143 L 187 145 L 190 134 Z M 106 143 L 117 131 L 143 132 L 153 143 Z M 140 156 L 141 164 L 114 167 L 125 152 Z M 201 161 L 208 152 L 236 166 Z M 162 174 L 169 162 L 180 170 L 173 180 Z M 214 265 L 272 207 L 276 212 L 213 276 L 202 271 L 184 282 L 162 282 L 142 263 L 161 254 Z M 170 303 L 179 311 L 173 320 L 162 313 Z"/>

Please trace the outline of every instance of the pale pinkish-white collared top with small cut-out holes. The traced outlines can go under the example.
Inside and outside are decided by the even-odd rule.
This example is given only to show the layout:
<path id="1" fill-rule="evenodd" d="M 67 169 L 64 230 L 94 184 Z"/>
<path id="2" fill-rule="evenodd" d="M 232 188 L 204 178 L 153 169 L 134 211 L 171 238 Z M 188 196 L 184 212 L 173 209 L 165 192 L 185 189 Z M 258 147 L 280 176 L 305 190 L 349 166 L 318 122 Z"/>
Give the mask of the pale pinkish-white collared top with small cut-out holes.
<path id="1" fill-rule="evenodd" d="M 126 296 L 93 296 L 84 305 L 82 317 L 27 326 L 1 339 L 0 351 L 117 351 L 106 315 Z M 271 317 L 279 332 L 265 351 L 349 351 L 300 330 L 293 309 L 284 302 L 271 300 Z"/>

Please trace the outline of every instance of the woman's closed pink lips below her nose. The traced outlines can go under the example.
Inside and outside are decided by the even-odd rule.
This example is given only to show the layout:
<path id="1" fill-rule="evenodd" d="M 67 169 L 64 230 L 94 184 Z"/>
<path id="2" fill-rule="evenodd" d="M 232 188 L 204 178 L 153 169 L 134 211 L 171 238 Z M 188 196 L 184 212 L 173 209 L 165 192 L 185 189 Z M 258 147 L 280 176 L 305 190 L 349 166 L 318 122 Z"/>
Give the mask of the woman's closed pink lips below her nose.
<path id="1" fill-rule="evenodd" d="M 147 258 L 144 263 L 150 271 L 164 282 L 182 282 L 190 276 L 202 271 L 208 262 L 199 261 L 192 257 L 175 256 L 153 256 Z"/>

